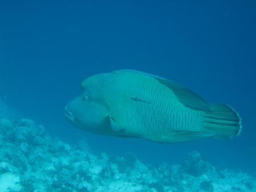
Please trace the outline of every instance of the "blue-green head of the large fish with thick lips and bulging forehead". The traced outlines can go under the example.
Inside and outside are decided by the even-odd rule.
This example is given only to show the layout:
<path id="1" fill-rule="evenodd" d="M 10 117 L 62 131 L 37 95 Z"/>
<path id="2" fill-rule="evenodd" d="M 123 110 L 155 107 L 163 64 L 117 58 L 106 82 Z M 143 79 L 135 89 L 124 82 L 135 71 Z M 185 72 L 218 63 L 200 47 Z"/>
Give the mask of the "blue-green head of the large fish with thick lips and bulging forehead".
<path id="1" fill-rule="evenodd" d="M 65 118 L 73 126 L 93 133 L 104 132 L 102 122 L 108 114 L 104 94 L 95 81 L 87 78 L 81 84 L 82 94 L 65 106 Z"/>

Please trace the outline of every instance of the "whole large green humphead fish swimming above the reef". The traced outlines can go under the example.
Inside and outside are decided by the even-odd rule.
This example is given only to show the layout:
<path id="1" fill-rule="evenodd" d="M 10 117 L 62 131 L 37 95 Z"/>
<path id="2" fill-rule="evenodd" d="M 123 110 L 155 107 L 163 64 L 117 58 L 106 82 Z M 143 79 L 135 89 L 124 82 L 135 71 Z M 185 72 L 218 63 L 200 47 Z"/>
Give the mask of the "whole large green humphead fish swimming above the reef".
<path id="1" fill-rule="evenodd" d="M 65 107 L 74 126 L 109 136 L 161 143 L 239 135 L 241 119 L 228 105 L 207 103 L 165 78 L 135 70 L 97 74 Z"/>

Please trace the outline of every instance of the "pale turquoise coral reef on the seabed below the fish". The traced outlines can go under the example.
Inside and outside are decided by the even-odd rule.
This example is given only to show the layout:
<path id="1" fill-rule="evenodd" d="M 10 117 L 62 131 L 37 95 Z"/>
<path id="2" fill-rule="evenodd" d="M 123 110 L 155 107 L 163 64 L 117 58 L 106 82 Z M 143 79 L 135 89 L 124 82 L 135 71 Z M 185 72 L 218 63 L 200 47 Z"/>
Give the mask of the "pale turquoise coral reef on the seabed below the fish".
<path id="1" fill-rule="evenodd" d="M 255 178 L 217 170 L 192 152 L 180 165 L 144 165 L 133 153 L 93 155 L 32 120 L 0 119 L 0 191 L 253 191 Z"/>

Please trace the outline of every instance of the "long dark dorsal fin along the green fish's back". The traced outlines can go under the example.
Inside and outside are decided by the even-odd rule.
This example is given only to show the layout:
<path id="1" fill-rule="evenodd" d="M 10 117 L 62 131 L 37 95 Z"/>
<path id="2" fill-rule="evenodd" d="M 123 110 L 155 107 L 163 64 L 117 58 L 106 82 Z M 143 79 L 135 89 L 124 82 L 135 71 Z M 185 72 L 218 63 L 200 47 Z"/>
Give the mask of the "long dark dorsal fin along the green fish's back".
<path id="1" fill-rule="evenodd" d="M 176 95 L 177 99 L 185 106 L 189 108 L 193 108 L 195 110 L 201 110 L 201 111 L 210 111 L 209 105 L 206 101 L 204 101 L 203 98 L 201 98 L 200 95 L 196 94 L 195 92 L 177 84 L 176 82 L 169 81 L 165 78 L 155 76 L 152 74 L 139 72 L 137 70 L 117 70 L 115 72 L 133 72 L 133 73 L 141 73 L 146 76 L 150 76 L 152 78 L 155 78 L 158 80 L 161 84 L 167 86 L 169 89 L 171 89 L 174 94 Z"/>

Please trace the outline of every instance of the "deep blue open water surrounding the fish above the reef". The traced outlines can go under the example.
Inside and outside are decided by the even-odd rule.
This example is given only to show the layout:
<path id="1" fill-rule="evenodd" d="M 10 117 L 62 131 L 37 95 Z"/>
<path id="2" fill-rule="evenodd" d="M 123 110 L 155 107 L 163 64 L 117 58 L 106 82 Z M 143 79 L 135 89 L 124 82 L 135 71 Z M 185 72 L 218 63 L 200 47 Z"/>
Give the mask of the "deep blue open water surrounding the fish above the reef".
<path id="1" fill-rule="evenodd" d="M 0 95 L 67 143 L 130 151 L 145 163 L 199 151 L 218 168 L 256 174 L 255 1 L 0 1 Z M 232 140 L 158 144 L 72 127 L 65 104 L 93 74 L 135 69 L 226 103 L 242 118 Z"/>

